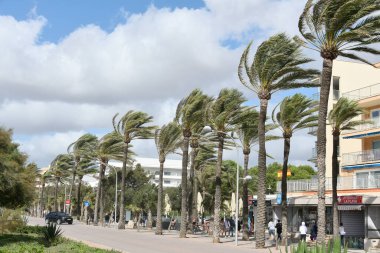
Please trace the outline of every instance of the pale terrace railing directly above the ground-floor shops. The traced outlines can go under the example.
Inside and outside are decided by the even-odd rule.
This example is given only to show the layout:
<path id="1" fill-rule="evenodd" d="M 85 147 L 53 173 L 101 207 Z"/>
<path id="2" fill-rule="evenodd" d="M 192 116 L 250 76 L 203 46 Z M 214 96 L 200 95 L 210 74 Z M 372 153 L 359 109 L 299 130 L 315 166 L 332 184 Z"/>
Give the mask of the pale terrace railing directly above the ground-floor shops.
<path id="1" fill-rule="evenodd" d="M 326 190 L 332 190 L 332 178 L 326 178 Z M 317 191 L 318 178 L 288 180 L 288 192 Z M 380 188 L 380 175 L 367 175 L 361 177 L 338 177 L 337 189 L 368 189 Z M 277 182 L 277 192 L 281 192 L 281 181 Z"/>

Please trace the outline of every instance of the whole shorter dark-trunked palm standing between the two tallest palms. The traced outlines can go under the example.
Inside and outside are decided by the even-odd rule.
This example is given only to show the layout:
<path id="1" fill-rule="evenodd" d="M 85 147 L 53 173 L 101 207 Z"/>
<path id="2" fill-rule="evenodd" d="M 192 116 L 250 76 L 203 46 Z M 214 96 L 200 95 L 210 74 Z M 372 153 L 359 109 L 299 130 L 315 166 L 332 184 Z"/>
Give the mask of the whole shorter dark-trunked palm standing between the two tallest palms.
<path id="1" fill-rule="evenodd" d="M 277 110 L 279 108 L 279 110 Z M 281 213 L 283 244 L 287 244 L 288 207 L 287 207 L 287 172 L 290 152 L 290 139 L 296 131 L 317 125 L 318 104 L 302 94 L 295 94 L 282 100 L 272 112 L 272 120 L 282 130 L 284 139 L 284 162 L 281 178 Z"/>

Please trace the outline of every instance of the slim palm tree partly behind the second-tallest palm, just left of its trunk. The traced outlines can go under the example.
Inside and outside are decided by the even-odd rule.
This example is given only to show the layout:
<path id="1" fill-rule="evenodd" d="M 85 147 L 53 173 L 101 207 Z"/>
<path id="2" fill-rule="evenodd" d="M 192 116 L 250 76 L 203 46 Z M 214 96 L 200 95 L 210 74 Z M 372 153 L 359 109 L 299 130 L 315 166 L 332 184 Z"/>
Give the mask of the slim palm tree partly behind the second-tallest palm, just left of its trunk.
<path id="1" fill-rule="evenodd" d="M 243 155 L 244 155 L 244 177 L 248 175 L 248 162 L 251 148 L 258 141 L 258 122 L 259 114 L 256 110 L 245 110 L 240 116 L 240 123 L 237 125 L 236 132 L 239 136 Z M 243 181 L 243 240 L 249 240 L 248 231 L 248 181 Z"/>

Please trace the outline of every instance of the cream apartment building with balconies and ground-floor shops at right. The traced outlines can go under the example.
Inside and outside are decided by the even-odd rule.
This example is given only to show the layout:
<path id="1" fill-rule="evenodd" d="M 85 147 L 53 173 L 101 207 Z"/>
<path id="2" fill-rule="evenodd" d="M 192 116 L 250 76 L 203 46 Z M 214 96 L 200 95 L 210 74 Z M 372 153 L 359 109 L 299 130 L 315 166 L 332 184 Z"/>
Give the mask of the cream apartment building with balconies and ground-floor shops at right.
<path id="1" fill-rule="evenodd" d="M 379 66 L 380 67 L 380 66 Z M 362 63 L 334 61 L 329 111 L 340 97 L 356 100 L 365 113 L 361 125 L 341 134 L 339 140 L 338 208 L 347 232 L 349 247 L 380 247 L 380 69 Z M 315 133 L 311 129 L 310 133 Z M 332 233 L 332 143 L 327 126 L 326 146 L 326 231 Z M 312 151 L 316 157 L 316 149 Z M 278 184 L 278 192 L 281 191 Z M 288 181 L 290 230 L 299 223 L 317 220 L 318 179 Z M 276 205 L 276 204 L 275 204 Z M 280 217 L 280 207 L 274 208 Z"/>

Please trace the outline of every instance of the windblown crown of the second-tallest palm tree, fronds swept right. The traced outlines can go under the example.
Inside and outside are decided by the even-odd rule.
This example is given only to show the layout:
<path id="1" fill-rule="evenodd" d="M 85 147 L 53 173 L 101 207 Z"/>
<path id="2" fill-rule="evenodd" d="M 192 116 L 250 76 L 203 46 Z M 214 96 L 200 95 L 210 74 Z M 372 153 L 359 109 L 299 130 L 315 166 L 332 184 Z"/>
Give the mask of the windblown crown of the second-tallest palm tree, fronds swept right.
<path id="1" fill-rule="evenodd" d="M 271 94 L 279 90 L 316 86 L 310 80 L 319 72 L 301 67 L 312 60 L 304 57 L 300 44 L 284 33 L 263 42 L 258 47 L 252 64 L 249 64 L 251 45 L 252 42 L 243 52 L 238 74 L 241 83 L 257 93 L 259 98 L 270 99 Z M 248 80 L 244 78 L 243 70 Z"/>

